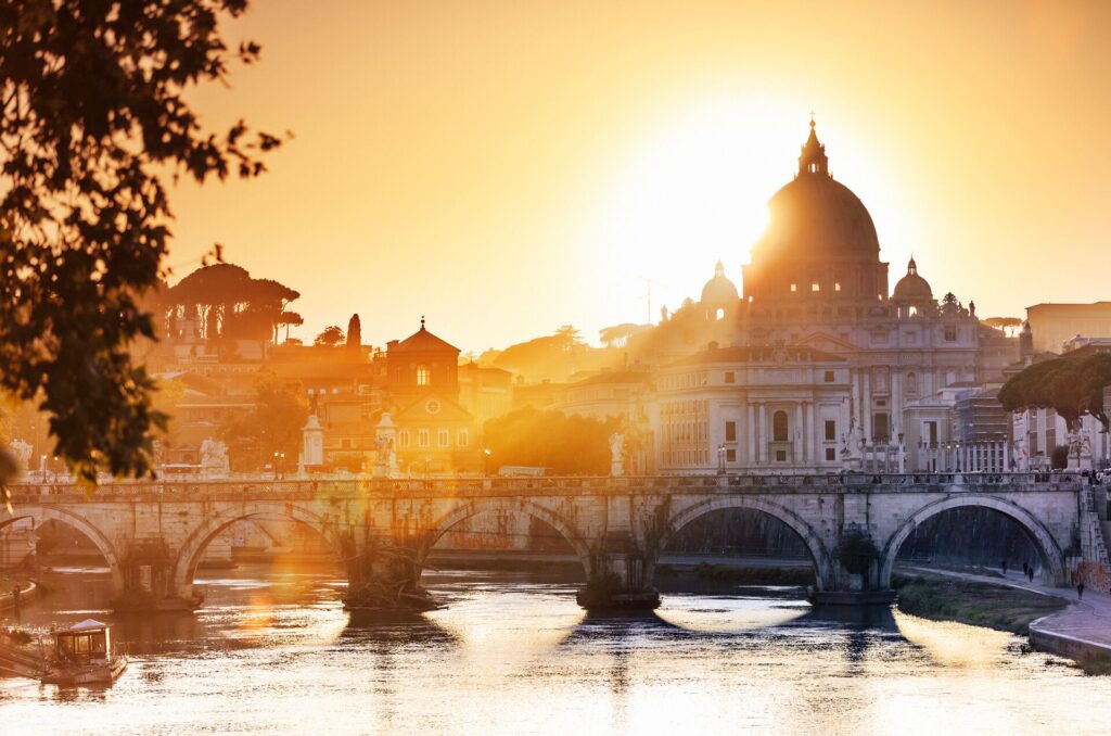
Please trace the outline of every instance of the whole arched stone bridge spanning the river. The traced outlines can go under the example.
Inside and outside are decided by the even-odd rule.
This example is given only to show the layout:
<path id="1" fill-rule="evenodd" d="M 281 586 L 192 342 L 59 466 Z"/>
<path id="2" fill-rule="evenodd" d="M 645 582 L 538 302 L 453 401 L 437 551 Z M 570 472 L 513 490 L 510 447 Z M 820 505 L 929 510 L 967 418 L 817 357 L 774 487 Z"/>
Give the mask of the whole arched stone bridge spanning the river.
<path id="1" fill-rule="evenodd" d="M 347 568 L 352 607 L 404 604 L 420 591 L 437 540 L 480 514 L 536 517 L 574 549 L 587 607 L 653 606 L 655 561 L 669 539 L 721 509 L 751 509 L 790 527 L 813 560 L 818 603 L 890 600 L 891 570 L 908 535 L 949 509 L 982 507 L 1019 524 L 1043 577 L 1097 558 L 1089 487 L 1074 474 L 909 474 L 474 479 L 117 481 L 92 495 L 72 486 L 14 486 L 13 513 L 68 524 L 111 569 L 120 609 L 192 609 L 193 575 L 208 544 L 242 519 L 288 519 L 314 529 Z M 1088 500 L 1085 500 L 1085 494 Z M 1099 524 L 1094 524 L 1099 530 Z M 1098 536 L 1098 535 L 1097 535 Z M 969 540 L 970 546 L 974 540 Z M 391 590 L 383 604 L 359 590 Z M 404 594 L 404 595 L 402 595 Z M 414 594 L 414 595 L 410 595 Z"/>

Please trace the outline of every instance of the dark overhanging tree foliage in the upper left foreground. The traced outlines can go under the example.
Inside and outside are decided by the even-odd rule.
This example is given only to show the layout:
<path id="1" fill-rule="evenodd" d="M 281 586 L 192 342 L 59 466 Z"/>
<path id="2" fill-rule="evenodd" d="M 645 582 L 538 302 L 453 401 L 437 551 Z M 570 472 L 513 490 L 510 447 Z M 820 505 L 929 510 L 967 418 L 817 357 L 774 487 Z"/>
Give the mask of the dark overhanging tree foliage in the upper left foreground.
<path id="1" fill-rule="evenodd" d="M 221 22 L 248 0 L 0 3 L 0 388 L 41 400 L 56 452 L 88 484 L 150 470 L 154 337 L 144 295 L 164 275 L 163 179 L 264 170 L 279 145 L 243 121 L 204 128 L 189 102 L 227 83 Z"/>

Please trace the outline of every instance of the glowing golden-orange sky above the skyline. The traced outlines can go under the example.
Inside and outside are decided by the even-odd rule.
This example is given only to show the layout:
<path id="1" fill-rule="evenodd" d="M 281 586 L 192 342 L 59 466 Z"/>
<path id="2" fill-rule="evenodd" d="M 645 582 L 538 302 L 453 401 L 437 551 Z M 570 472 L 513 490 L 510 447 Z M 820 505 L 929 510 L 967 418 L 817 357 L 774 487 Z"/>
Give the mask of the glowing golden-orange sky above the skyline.
<path id="1" fill-rule="evenodd" d="M 875 220 L 978 314 L 1111 298 L 1111 3 L 257 0 L 261 63 L 193 95 L 296 139 L 263 178 L 176 195 L 180 278 L 212 242 L 301 291 L 311 340 L 429 327 L 480 351 L 740 287 L 809 111 Z"/>

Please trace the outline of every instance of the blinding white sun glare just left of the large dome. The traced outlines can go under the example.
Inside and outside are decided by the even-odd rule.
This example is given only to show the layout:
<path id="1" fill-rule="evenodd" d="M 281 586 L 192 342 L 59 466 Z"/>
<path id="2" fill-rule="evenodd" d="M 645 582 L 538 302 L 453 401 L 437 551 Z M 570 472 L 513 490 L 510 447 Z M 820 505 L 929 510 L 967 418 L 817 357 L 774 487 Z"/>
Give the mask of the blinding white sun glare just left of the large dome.
<path id="1" fill-rule="evenodd" d="M 592 262 L 605 275 L 607 311 L 621 315 L 613 319 L 648 317 L 649 279 L 653 321 L 661 306 L 698 299 L 718 259 L 741 287 L 768 200 L 794 176 L 809 122 L 798 100 L 714 99 L 630 142 L 588 236 Z M 844 160 L 848 152 L 833 159 Z"/>

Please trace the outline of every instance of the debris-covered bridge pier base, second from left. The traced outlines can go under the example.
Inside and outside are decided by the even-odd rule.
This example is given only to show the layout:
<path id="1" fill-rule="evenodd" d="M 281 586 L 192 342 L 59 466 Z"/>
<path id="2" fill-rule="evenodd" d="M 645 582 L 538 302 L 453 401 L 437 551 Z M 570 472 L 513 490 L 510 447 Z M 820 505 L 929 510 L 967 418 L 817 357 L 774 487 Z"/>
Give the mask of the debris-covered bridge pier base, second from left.
<path id="1" fill-rule="evenodd" d="M 382 611 L 438 608 L 432 596 L 420 585 L 424 556 L 424 545 L 417 539 L 379 536 L 357 544 L 348 537 L 343 540 L 343 559 L 348 568 L 343 607 Z"/>

